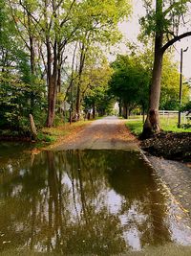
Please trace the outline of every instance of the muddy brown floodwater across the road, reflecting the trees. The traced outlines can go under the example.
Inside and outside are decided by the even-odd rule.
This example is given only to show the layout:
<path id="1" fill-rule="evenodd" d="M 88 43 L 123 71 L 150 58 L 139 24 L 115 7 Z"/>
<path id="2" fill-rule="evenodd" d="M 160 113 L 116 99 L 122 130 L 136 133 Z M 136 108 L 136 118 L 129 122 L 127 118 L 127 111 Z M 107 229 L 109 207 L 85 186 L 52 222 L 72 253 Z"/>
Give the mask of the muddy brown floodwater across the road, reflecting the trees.
<path id="1" fill-rule="evenodd" d="M 138 151 L 0 147 L 0 254 L 119 255 L 168 243 L 191 244 L 190 220 Z"/>

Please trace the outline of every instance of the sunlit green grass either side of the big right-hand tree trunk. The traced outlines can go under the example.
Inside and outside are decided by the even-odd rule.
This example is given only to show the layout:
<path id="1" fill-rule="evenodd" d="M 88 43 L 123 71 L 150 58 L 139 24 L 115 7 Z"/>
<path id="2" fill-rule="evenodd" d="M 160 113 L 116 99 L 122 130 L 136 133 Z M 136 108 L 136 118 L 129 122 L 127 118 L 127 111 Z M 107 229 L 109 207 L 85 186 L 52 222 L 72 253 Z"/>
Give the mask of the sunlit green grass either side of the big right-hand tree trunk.
<path id="1" fill-rule="evenodd" d="M 183 125 L 181 126 L 181 128 L 177 127 L 177 117 L 160 117 L 159 122 L 161 129 L 166 131 L 191 132 L 191 128 L 183 128 Z M 181 124 L 183 124 L 183 120 L 181 120 Z M 128 120 L 126 126 L 130 128 L 133 134 L 138 136 L 142 131 L 142 120 Z"/>

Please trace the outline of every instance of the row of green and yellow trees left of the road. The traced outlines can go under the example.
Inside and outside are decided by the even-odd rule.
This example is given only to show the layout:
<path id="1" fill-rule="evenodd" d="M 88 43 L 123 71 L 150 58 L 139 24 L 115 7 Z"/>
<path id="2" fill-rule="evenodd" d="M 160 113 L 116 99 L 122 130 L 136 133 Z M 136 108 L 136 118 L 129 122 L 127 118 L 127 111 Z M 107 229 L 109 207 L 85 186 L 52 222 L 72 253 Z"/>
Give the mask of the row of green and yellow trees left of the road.
<path id="1" fill-rule="evenodd" d="M 129 2 L 1 0 L 0 5 L 0 125 L 24 127 L 31 113 L 39 124 L 46 116 L 50 128 L 65 102 L 78 119 L 88 91 L 92 95 L 93 86 L 107 82 L 103 51 L 120 39 L 117 24 L 129 15 Z"/>

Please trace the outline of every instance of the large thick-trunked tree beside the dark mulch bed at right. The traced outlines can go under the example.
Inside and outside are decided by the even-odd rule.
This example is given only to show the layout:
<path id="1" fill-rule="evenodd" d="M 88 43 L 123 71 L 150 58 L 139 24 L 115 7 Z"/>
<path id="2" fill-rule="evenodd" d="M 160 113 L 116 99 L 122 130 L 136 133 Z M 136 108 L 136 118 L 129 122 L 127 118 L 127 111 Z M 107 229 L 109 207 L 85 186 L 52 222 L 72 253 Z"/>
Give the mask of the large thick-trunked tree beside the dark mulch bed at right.
<path id="1" fill-rule="evenodd" d="M 184 25 L 184 15 L 190 1 L 156 0 L 156 10 L 152 9 L 153 1 L 144 1 L 147 8 L 146 17 L 141 24 L 146 35 L 154 35 L 155 55 L 152 72 L 152 82 L 149 95 L 149 109 L 143 127 L 142 137 L 149 137 L 159 132 L 159 97 L 162 58 L 165 51 L 178 40 L 191 35 L 190 32 L 180 34 L 179 28 Z M 182 24 L 183 23 L 183 24 Z"/>

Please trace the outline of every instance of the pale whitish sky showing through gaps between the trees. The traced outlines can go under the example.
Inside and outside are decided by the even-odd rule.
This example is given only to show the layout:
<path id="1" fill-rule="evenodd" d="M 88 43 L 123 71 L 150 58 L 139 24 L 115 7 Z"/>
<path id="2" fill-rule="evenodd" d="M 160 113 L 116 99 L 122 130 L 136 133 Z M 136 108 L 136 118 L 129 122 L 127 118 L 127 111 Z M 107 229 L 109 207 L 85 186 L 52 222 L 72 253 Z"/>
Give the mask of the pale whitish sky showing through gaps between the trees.
<path id="1" fill-rule="evenodd" d="M 133 14 L 132 17 L 128 22 L 123 22 L 119 25 L 120 31 L 123 33 L 123 35 L 128 38 L 128 40 L 132 42 L 138 42 L 137 36 L 139 33 L 139 23 L 138 19 L 139 17 L 143 16 L 145 14 L 145 10 L 141 5 L 140 0 L 133 0 Z M 177 42 L 175 44 L 175 61 L 178 61 L 180 63 L 180 49 L 183 50 L 188 47 L 188 50 L 183 53 L 183 61 L 182 61 L 182 73 L 185 79 L 191 78 L 191 36 L 182 39 L 180 42 Z M 120 45 L 120 51 L 122 54 L 125 54 L 127 51 L 127 48 L 124 44 Z M 179 64 L 180 69 L 180 64 Z"/>

